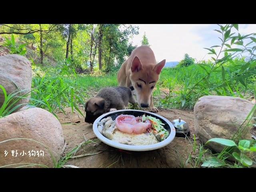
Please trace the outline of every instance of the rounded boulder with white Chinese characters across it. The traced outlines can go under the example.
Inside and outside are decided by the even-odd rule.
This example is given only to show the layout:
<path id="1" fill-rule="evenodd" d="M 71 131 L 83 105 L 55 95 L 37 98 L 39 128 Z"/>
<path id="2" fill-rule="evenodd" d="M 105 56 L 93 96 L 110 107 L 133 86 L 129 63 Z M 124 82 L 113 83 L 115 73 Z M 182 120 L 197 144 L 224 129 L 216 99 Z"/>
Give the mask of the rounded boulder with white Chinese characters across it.
<path id="1" fill-rule="evenodd" d="M 31 140 L 10 140 L 14 138 Z M 10 141 L 3 142 L 5 140 Z M 44 109 L 30 108 L 0 118 L 0 166 L 19 163 L 12 166 L 18 167 L 25 165 L 25 163 L 34 163 L 54 167 L 50 152 L 55 161 L 58 162 L 65 144 L 60 122 Z M 12 156 L 12 150 L 14 150 L 14 156 Z M 29 156 L 29 151 L 31 156 Z M 44 156 L 42 156 L 42 151 Z M 8 152 L 8 154 L 5 156 L 4 152 Z M 16 152 L 18 153 L 17 156 Z M 35 156 L 32 156 L 34 153 Z"/>

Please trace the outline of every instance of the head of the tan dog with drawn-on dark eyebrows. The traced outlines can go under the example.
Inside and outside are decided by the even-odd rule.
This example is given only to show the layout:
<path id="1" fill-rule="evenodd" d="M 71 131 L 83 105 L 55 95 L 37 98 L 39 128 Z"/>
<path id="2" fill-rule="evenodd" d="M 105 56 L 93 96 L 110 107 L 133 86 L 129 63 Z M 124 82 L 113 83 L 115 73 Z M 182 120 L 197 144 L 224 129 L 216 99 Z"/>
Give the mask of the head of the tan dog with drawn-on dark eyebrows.
<path id="1" fill-rule="evenodd" d="M 150 96 L 159 80 L 159 75 L 165 65 L 165 60 L 157 64 L 148 64 L 143 66 L 138 57 L 134 57 L 131 65 L 131 82 L 136 93 L 137 102 L 141 107 L 148 107 Z"/>

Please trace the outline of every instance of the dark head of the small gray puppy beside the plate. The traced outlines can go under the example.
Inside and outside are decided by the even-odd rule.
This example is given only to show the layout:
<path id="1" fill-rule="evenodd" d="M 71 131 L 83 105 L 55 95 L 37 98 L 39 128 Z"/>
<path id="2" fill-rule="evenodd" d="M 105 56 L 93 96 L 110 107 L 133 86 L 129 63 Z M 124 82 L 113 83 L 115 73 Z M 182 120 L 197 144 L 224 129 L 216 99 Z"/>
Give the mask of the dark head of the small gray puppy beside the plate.
<path id="1" fill-rule="evenodd" d="M 101 97 L 90 98 L 85 104 L 85 122 L 93 123 L 96 118 L 105 113 L 105 100 Z"/>

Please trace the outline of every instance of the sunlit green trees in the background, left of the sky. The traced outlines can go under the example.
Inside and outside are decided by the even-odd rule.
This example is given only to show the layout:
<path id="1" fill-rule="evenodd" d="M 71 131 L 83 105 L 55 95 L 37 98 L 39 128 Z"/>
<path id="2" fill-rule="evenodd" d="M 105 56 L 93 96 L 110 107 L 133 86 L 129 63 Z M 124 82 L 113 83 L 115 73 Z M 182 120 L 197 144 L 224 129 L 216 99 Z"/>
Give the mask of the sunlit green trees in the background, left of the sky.
<path id="1" fill-rule="evenodd" d="M 36 64 L 66 63 L 77 72 L 116 70 L 136 47 L 138 27 L 126 24 L 1 24 L 0 35 L 26 43 Z M 28 51 L 29 53 L 29 51 Z M 29 54 L 27 55 L 29 56 Z M 30 54 L 31 56 L 31 54 Z"/>

